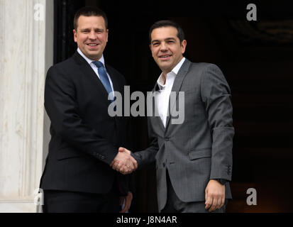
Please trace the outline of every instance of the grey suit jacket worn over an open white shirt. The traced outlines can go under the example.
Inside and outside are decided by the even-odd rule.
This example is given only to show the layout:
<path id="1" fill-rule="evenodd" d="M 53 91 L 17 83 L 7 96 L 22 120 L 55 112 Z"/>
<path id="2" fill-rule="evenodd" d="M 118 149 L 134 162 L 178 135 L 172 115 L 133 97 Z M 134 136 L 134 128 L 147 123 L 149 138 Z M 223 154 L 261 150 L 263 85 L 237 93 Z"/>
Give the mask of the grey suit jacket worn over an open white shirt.
<path id="1" fill-rule="evenodd" d="M 184 92 L 184 122 L 174 124 L 170 116 L 165 128 L 160 116 L 149 116 L 150 147 L 132 153 L 139 169 L 156 162 L 159 211 L 167 201 L 166 168 L 177 196 L 184 202 L 205 201 L 209 179 L 231 181 L 232 175 L 231 91 L 219 67 L 186 59 L 172 92 Z M 178 95 L 170 109 L 175 103 L 178 109 Z M 228 182 L 226 199 L 231 199 Z"/>

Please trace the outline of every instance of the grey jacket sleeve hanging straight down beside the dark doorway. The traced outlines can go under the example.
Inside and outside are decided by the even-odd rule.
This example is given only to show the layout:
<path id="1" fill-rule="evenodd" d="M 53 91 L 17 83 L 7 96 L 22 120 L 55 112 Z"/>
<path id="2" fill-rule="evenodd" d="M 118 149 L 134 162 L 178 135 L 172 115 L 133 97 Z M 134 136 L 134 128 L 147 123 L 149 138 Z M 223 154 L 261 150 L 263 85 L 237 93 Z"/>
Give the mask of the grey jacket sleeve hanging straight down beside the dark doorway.
<path id="1" fill-rule="evenodd" d="M 210 64 L 201 75 L 201 99 L 212 135 L 210 179 L 231 180 L 233 120 L 231 90 L 223 73 Z"/>

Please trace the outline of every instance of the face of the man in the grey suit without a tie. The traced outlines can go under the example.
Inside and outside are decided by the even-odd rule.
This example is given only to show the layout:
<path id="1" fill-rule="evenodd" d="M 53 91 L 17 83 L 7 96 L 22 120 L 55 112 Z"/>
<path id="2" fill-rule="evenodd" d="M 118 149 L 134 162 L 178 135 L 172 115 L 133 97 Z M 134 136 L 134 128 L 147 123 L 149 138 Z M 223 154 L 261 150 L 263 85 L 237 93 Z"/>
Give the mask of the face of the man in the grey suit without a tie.
<path id="1" fill-rule="evenodd" d="M 155 28 L 150 36 L 150 50 L 155 62 L 164 74 L 171 72 L 182 60 L 187 45 L 186 40 L 180 43 L 177 28 L 171 26 Z"/>

